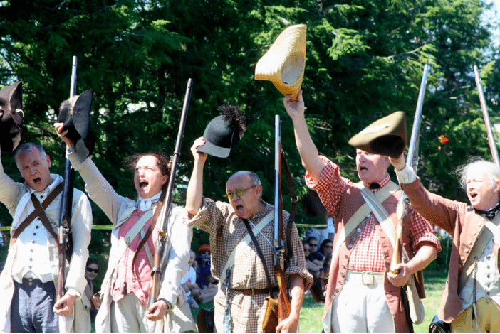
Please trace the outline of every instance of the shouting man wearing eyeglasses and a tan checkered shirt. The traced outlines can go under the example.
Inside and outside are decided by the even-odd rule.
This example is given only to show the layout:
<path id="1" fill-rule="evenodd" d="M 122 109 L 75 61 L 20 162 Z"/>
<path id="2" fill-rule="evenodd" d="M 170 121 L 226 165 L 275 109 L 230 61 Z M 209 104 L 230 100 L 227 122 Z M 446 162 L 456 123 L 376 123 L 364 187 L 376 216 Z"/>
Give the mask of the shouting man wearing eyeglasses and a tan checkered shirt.
<path id="1" fill-rule="evenodd" d="M 269 289 L 277 296 L 278 283 L 273 268 L 274 206 L 261 199 L 262 185 L 256 173 L 239 171 L 226 183 L 229 203 L 203 197 L 203 168 L 207 153 L 197 152 L 205 144 L 203 137 L 194 141 L 191 151 L 194 168 L 187 187 L 187 225 L 197 225 L 210 233 L 212 275 L 220 280 L 219 291 L 214 298 L 214 323 L 217 332 L 262 332 Z M 268 216 L 270 215 L 270 216 Z M 264 264 L 259 258 L 254 242 L 243 244 L 249 228 L 259 227 L 254 233 L 269 271 L 269 286 Z M 283 221 L 288 212 L 283 211 Z M 259 229 L 257 229 L 259 230 Z M 306 269 L 301 239 L 293 225 L 293 257 L 286 269 L 291 286 L 291 313 L 278 324 L 278 332 L 296 332 L 303 302 L 304 289 L 312 284 L 312 276 Z M 234 251 L 234 252 L 233 252 Z M 234 259 L 234 262 L 233 260 Z M 228 265 L 233 263 L 232 265 Z M 228 270 L 229 269 L 229 275 Z"/>

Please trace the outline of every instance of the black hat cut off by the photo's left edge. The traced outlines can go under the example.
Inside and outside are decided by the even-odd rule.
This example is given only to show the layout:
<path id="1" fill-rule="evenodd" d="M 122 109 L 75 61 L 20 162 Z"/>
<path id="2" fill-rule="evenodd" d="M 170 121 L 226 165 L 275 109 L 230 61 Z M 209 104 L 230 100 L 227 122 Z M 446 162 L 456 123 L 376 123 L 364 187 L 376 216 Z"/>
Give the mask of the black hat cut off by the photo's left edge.
<path id="1" fill-rule="evenodd" d="M 23 82 L 4 86 L 0 90 L 0 147 L 1 151 L 11 152 L 21 141 L 23 132 Z"/>

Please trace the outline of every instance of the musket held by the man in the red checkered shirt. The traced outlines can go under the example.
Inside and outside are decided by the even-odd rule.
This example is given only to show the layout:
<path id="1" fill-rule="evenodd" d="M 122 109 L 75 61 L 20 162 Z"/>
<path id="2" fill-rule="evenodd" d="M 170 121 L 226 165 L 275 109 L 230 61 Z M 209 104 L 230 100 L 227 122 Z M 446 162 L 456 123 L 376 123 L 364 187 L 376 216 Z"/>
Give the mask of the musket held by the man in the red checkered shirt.
<path id="1" fill-rule="evenodd" d="M 425 87 L 427 86 L 427 75 L 429 73 L 429 65 L 425 64 L 422 81 L 420 82 L 420 91 L 418 93 L 417 109 L 415 110 L 415 117 L 413 119 L 412 137 L 410 145 L 408 146 L 408 156 L 406 159 L 406 166 L 412 166 L 413 170 L 417 172 L 418 167 L 418 144 L 420 136 L 420 121 L 422 119 L 422 105 L 425 97 Z M 397 203 L 396 216 L 396 239 L 394 244 L 394 251 L 392 252 L 392 259 L 390 262 L 390 271 L 392 274 L 399 272 L 396 269 L 397 264 L 402 263 L 402 230 L 405 224 L 405 212 L 410 207 L 410 200 L 405 193 L 401 194 L 400 201 Z"/>

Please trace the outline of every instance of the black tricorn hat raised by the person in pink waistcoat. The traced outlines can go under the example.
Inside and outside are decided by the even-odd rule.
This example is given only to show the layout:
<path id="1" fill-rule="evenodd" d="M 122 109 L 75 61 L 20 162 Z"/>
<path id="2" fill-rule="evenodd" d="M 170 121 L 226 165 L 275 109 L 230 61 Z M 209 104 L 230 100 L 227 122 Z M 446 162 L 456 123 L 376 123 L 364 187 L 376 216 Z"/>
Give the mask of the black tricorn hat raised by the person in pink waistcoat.
<path id="1" fill-rule="evenodd" d="M 95 135 L 90 131 L 90 110 L 93 90 L 87 90 L 61 103 L 58 122 L 64 123 L 63 131 L 75 143 L 78 159 L 84 161 L 90 156 L 95 145 Z"/>

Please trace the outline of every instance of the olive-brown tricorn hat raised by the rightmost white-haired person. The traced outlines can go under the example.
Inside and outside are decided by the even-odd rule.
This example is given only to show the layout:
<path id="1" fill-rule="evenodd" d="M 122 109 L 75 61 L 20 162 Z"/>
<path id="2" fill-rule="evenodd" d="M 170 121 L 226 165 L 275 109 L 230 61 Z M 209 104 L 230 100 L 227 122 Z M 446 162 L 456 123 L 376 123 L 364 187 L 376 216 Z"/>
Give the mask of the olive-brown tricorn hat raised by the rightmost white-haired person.
<path id="1" fill-rule="evenodd" d="M 398 158 L 407 142 L 405 112 L 394 112 L 373 122 L 349 139 L 349 145 L 368 153 Z"/>

